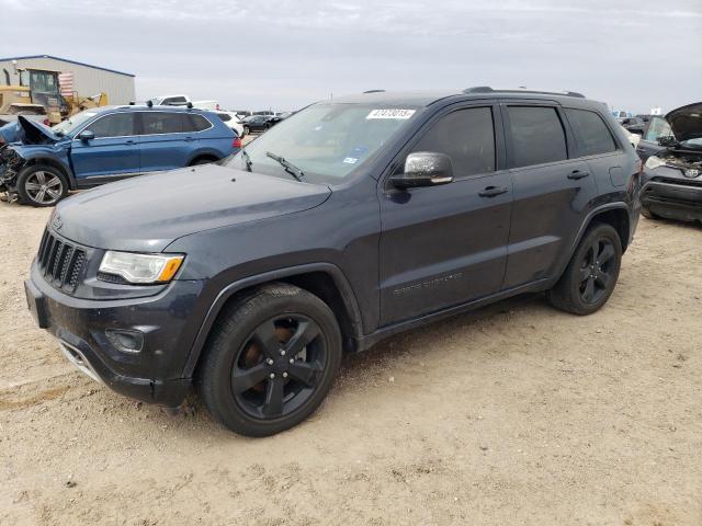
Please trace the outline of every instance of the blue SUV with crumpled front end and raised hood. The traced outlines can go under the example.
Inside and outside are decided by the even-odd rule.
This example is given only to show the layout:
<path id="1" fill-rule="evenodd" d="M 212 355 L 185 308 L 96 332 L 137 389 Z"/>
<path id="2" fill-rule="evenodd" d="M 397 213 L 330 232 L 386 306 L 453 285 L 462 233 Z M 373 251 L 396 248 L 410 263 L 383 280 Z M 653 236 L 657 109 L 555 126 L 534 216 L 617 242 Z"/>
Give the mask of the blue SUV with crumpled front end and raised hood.
<path id="1" fill-rule="evenodd" d="M 69 190 L 218 161 L 240 139 L 217 115 L 186 107 L 87 110 L 53 128 L 19 118 L 19 142 L 0 146 L 0 192 L 53 206 Z"/>

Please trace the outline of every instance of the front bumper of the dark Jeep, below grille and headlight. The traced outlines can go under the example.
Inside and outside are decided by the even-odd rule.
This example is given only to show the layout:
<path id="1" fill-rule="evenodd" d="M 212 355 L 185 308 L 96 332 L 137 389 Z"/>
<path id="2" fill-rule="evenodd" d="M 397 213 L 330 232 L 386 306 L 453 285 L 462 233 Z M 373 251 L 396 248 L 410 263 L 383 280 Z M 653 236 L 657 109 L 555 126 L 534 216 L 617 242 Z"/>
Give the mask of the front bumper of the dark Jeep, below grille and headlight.
<path id="1" fill-rule="evenodd" d="M 25 293 L 38 327 L 58 339 L 66 357 L 80 370 L 121 395 L 176 408 L 191 385 L 182 371 L 203 283 L 176 281 L 157 296 L 145 298 L 80 299 L 49 285 L 34 263 Z M 141 350 L 117 348 L 107 338 L 107 331 L 114 330 L 141 333 Z"/>

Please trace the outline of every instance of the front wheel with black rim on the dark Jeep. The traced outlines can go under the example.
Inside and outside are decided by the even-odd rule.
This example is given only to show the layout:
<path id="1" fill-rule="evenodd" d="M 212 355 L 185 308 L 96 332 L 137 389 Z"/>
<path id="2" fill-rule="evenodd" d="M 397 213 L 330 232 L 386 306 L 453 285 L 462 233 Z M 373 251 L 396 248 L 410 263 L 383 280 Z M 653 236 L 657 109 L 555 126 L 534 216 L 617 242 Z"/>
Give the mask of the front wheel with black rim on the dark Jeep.
<path id="1" fill-rule="evenodd" d="M 341 363 L 341 332 L 313 294 L 271 284 L 217 319 L 195 384 L 210 413 L 247 436 L 269 436 L 307 419 Z"/>

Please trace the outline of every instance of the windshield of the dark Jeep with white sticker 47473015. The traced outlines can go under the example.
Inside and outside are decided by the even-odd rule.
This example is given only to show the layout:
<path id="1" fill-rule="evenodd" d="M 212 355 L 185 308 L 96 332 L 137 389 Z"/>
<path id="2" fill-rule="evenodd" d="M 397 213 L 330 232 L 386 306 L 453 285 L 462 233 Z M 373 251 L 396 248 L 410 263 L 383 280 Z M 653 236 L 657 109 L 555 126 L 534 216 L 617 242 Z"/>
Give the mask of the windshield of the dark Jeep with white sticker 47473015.
<path id="1" fill-rule="evenodd" d="M 234 156 L 226 165 L 291 176 L 283 158 L 303 181 L 336 183 L 362 167 L 409 121 L 417 107 L 320 103 L 282 121 Z M 273 155 L 271 157 L 269 153 Z"/>

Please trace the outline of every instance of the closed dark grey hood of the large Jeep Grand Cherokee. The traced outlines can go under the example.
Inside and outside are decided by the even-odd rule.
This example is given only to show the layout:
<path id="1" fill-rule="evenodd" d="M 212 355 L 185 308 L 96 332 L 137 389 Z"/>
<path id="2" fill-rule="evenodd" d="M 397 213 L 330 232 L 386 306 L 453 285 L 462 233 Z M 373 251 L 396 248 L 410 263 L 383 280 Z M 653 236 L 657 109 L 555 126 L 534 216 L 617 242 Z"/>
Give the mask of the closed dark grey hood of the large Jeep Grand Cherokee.
<path id="1" fill-rule="evenodd" d="M 326 185 L 202 164 L 82 192 L 59 203 L 52 225 L 88 247 L 160 252 L 182 236 L 306 210 L 330 194 Z"/>

